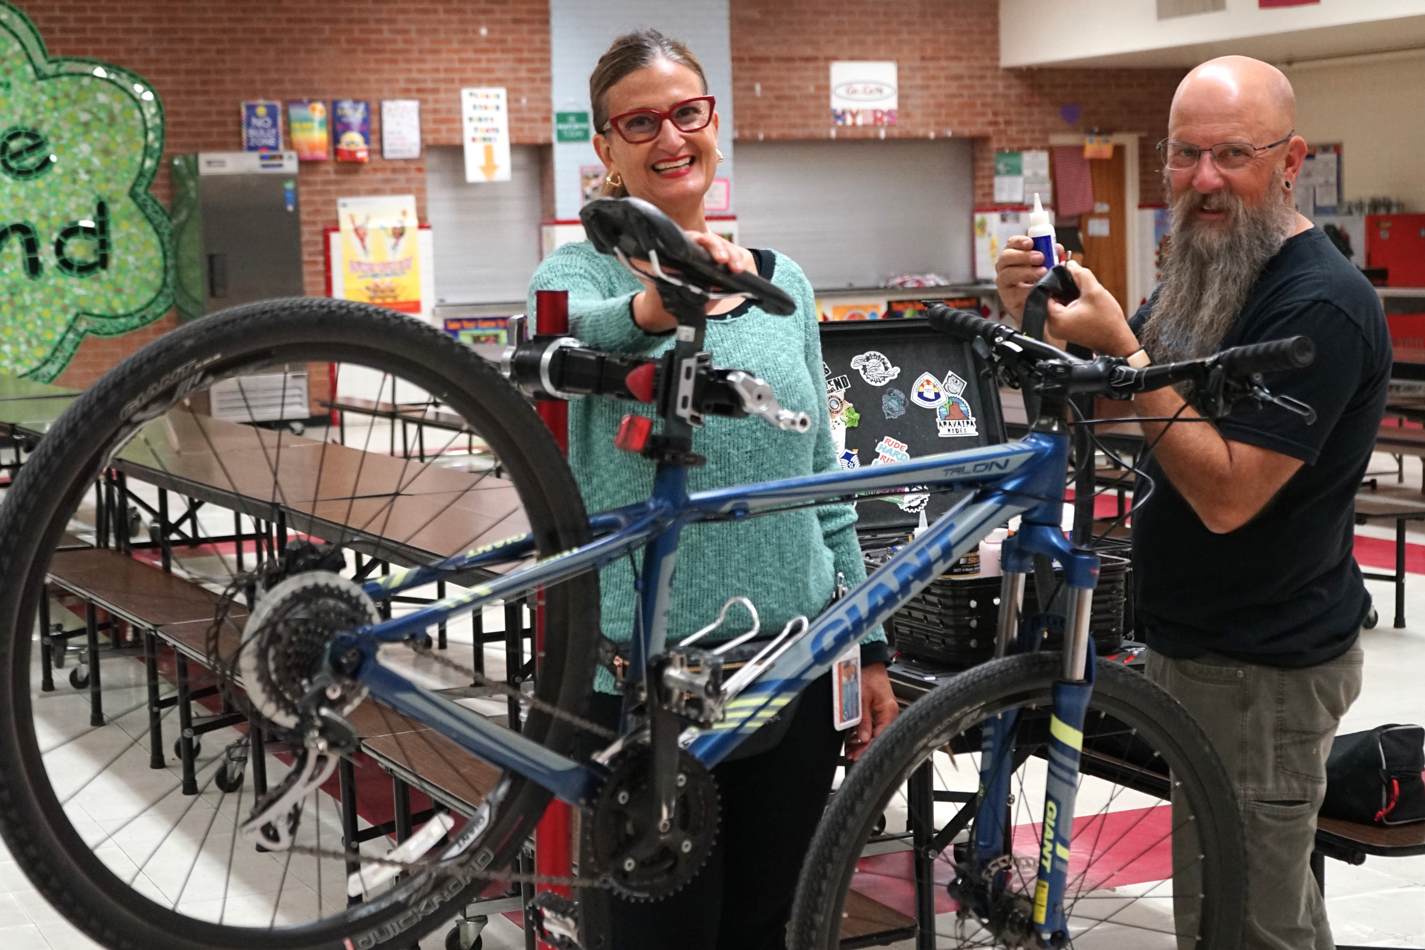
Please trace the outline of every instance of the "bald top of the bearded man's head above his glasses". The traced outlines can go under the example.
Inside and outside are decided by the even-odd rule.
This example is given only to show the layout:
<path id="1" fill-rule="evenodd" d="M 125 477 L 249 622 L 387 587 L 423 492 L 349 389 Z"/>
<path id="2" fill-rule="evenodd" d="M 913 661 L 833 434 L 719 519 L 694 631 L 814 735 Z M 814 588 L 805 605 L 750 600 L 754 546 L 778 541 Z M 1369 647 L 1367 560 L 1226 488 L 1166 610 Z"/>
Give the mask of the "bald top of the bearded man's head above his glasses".
<path id="1" fill-rule="evenodd" d="M 1194 68 L 1178 84 L 1168 113 L 1173 138 L 1178 128 L 1237 128 L 1237 134 L 1250 132 L 1241 141 L 1263 144 L 1287 135 L 1295 124 L 1291 83 L 1275 66 L 1245 56 L 1223 56 Z"/>

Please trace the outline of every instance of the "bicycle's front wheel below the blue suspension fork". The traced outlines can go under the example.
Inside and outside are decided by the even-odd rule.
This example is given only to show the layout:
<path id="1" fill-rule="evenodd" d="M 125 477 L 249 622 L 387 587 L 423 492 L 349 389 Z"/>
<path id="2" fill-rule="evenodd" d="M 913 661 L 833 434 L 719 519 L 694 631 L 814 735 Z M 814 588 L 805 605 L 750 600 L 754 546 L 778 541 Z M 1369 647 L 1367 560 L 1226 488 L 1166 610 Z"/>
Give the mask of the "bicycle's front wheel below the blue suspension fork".
<path id="1" fill-rule="evenodd" d="M 1059 654 L 988 662 L 915 701 L 871 745 L 834 795 L 807 856 L 791 947 L 1037 946 L 1033 936 L 1022 941 L 1059 671 Z M 980 725 L 1010 711 L 1019 721 L 1005 823 L 1010 856 L 1007 880 L 993 893 L 972 853 Z M 886 818 L 889 833 L 878 833 Z M 1245 857 L 1227 773 L 1167 692 L 1116 664 L 1097 668 L 1070 850 L 1072 946 L 1240 944 Z M 970 913 L 975 902 L 989 913 Z"/>

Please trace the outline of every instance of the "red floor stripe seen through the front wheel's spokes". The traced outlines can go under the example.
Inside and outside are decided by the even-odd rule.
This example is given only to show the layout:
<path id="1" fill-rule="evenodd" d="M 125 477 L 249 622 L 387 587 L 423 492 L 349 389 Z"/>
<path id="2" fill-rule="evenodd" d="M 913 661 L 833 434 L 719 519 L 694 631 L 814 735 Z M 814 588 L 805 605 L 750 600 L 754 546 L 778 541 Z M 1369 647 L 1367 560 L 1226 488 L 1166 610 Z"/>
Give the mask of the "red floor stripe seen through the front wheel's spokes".
<path id="1" fill-rule="evenodd" d="M 1109 812 L 1074 822 L 1069 893 L 1167 880 L 1173 875 L 1171 830 L 1173 809 L 1168 805 Z M 1037 823 L 1016 825 L 1013 840 L 1015 853 L 1027 859 L 1026 865 L 1037 860 Z M 953 877 L 950 862 L 935 862 L 933 876 L 935 913 L 955 910 L 956 903 L 945 892 L 945 884 Z M 856 877 L 851 886 L 872 900 L 913 916 L 913 882 L 911 852 L 903 850 L 862 857 L 856 862 Z"/>

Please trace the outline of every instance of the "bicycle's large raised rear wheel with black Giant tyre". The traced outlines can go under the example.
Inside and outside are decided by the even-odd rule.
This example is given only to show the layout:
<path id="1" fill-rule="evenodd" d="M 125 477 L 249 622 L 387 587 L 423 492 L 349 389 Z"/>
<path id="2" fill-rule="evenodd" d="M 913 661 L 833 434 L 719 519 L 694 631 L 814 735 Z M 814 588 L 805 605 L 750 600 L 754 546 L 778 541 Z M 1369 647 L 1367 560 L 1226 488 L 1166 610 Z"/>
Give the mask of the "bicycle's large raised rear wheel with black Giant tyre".
<path id="1" fill-rule="evenodd" d="M 160 523 L 147 543 L 131 533 L 131 507 Z M 241 630 L 254 595 L 304 570 L 302 558 L 361 581 L 522 533 L 534 551 L 520 557 L 587 541 L 579 487 L 524 399 L 416 319 L 343 301 L 272 301 L 182 326 L 124 360 L 54 424 L 0 508 L 0 830 L 14 859 L 107 947 L 412 946 L 489 883 L 476 867 L 514 859 L 550 795 L 368 699 L 351 719 L 366 751 L 380 745 L 383 758 L 359 758 L 342 781 L 332 775 L 311 792 L 298 849 L 255 847 L 237 825 L 258 785 L 279 788 L 302 743 L 291 724 L 247 702 L 224 637 Z M 450 577 L 445 593 L 489 575 Z M 435 584 L 408 595 L 432 598 Z M 597 575 L 542 597 L 536 696 L 577 715 L 591 688 Z M 205 618 L 192 615 L 195 598 Z M 100 605 L 87 618 L 84 600 Z M 507 604 L 504 618 L 520 622 L 522 612 Z M 63 634 L 84 620 L 91 688 L 80 691 L 47 664 L 66 658 Z M 398 645 L 383 648 L 383 661 L 452 688 L 452 701 L 519 716 L 517 702 L 472 689 L 460 669 L 483 658 L 482 624 L 453 618 L 442 632 L 450 651 Z M 325 640 L 292 637 L 262 668 L 269 692 L 301 692 L 319 661 Z M 457 645 L 473 659 L 437 662 Z M 192 722 L 175 691 L 194 701 Z M 540 708 L 523 729 L 559 752 L 576 738 L 570 721 Z M 459 860 L 409 866 L 349 896 L 348 873 L 396 843 L 380 825 L 400 829 L 378 761 L 395 762 L 418 789 L 416 810 L 425 771 L 442 772 L 459 788 L 426 781 L 430 810 L 452 810 L 452 835 L 479 822 L 484 830 L 472 832 Z M 343 813 L 348 793 L 358 809 L 375 805 Z M 349 820 L 366 840 L 351 840 L 346 828 L 343 849 Z"/>

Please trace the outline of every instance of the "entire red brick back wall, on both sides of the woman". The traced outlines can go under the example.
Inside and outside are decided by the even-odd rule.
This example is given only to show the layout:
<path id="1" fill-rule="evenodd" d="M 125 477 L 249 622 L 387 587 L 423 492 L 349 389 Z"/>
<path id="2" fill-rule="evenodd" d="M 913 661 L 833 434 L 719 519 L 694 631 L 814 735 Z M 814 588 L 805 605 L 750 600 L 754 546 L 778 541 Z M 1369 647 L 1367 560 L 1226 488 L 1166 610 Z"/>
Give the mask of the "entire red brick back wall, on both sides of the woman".
<path id="1" fill-rule="evenodd" d="M 459 90 L 510 90 L 516 144 L 550 141 L 547 0 L 21 0 L 51 54 L 135 70 L 160 91 L 167 151 L 239 147 L 238 103 L 249 98 L 419 98 L 426 145 L 460 141 Z M 732 81 L 741 138 L 829 135 L 828 63 L 901 64 L 895 137 L 975 140 L 976 202 L 990 201 L 993 152 L 1042 148 L 1053 132 L 1092 127 L 1144 132 L 1143 199 L 1160 194 L 1151 157 L 1183 70 L 1000 70 L 998 0 L 731 0 Z M 483 30 L 483 34 L 482 34 Z M 757 88 L 761 94 L 757 94 Z M 1079 104 L 1076 127 L 1059 107 Z M 881 130 L 841 128 L 841 137 Z M 338 197 L 416 195 L 425 218 L 425 161 L 304 162 L 302 255 L 308 293 L 323 292 L 323 226 Z M 167 169 L 154 185 L 167 202 Z M 87 385 L 172 318 L 130 336 L 88 339 L 61 377 Z"/>

